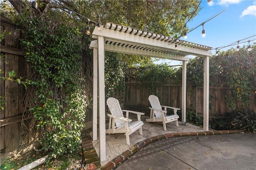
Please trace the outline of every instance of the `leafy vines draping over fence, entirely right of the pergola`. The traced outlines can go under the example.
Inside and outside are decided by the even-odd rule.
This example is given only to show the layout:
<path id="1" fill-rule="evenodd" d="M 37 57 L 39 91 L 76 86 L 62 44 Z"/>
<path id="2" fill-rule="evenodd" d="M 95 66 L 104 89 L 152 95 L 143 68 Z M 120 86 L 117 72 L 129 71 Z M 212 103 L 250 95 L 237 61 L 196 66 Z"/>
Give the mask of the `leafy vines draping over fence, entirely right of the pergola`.
<path id="1" fill-rule="evenodd" d="M 221 52 L 212 58 L 212 67 L 218 77 L 224 77 L 224 82 L 232 90 L 226 96 L 230 109 L 234 107 L 234 98 L 239 101 L 242 108 L 248 108 L 250 95 L 256 92 L 256 46 L 247 51 L 247 47 L 236 51 L 234 48 Z M 220 83 L 215 79 L 216 83 Z M 222 84 L 223 84 L 222 83 Z"/>

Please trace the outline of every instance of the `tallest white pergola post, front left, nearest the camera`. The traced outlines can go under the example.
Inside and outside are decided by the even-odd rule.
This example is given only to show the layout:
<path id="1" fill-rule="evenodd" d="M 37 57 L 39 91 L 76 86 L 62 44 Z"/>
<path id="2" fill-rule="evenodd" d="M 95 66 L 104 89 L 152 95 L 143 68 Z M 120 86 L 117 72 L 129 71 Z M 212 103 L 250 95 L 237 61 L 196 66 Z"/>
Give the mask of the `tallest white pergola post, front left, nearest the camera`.
<path id="1" fill-rule="evenodd" d="M 99 136 L 100 162 L 106 160 L 106 122 L 105 122 L 105 66 L 104 66 L 104 38 L 98 36 L 98 71 L 99 71 Z"/>

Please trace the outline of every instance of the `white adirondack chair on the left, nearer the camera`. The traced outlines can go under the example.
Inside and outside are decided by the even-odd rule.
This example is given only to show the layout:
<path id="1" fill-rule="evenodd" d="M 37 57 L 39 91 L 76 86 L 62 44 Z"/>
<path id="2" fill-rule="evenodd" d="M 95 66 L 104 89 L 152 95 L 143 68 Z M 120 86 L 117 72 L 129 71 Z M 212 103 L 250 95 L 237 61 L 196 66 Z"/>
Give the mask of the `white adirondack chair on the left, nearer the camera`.
<path id="1" fill-rule="evenodd" d="M 122 110 L 118 99 L 113 97 L 107 99 L 107 105 L 111 115 L 108 114 L 110 118 L 106 133 L 125 133 L 126 144 L 130 145 L 130 134 L 140 129 L 140 134 L 142 135 L 142 125 L 144 123 L 140 120 L 140 116 L 144 115 L 144 113 Z M 123 112 L 126 112 L 126 117 L 124 117 Z M 129 113 L 137 114 L 138 121 L 132 121 L 132 119 L 129 119 Z"/>

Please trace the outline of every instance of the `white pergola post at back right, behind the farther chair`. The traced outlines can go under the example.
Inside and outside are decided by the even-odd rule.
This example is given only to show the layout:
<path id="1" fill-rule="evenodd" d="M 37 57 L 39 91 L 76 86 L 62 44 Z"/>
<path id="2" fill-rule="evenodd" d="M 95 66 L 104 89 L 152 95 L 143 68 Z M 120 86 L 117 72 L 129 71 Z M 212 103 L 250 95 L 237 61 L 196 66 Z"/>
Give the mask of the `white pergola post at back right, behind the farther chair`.
<path id="1" fill-rule="evenodd" d="M 182 118 L 181 121 L 186 122 L 186 82 L 187 79 L 187 61 L 182 61 Z"/>

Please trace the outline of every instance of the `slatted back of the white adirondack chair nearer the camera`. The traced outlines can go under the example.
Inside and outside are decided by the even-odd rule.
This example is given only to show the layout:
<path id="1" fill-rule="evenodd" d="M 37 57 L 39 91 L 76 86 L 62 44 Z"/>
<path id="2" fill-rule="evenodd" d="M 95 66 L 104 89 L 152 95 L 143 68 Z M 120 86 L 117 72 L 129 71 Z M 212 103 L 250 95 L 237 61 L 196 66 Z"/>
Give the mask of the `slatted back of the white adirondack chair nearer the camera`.
<path id="1" fill-rule="evenodd" d="M 114 97 L 108 98 L 107 105 L 108 105 L 111 115 L 113 115 L 115 117 L 124 117 L 124 114 L 120 107 L 120 103 L 119 103 L 118 99 L 116 99 Z M 124 121 L 115 119 L 115 123 L 116 123 L 117 127 L 120 127 L 121 125 L 124 124 Z"/>

